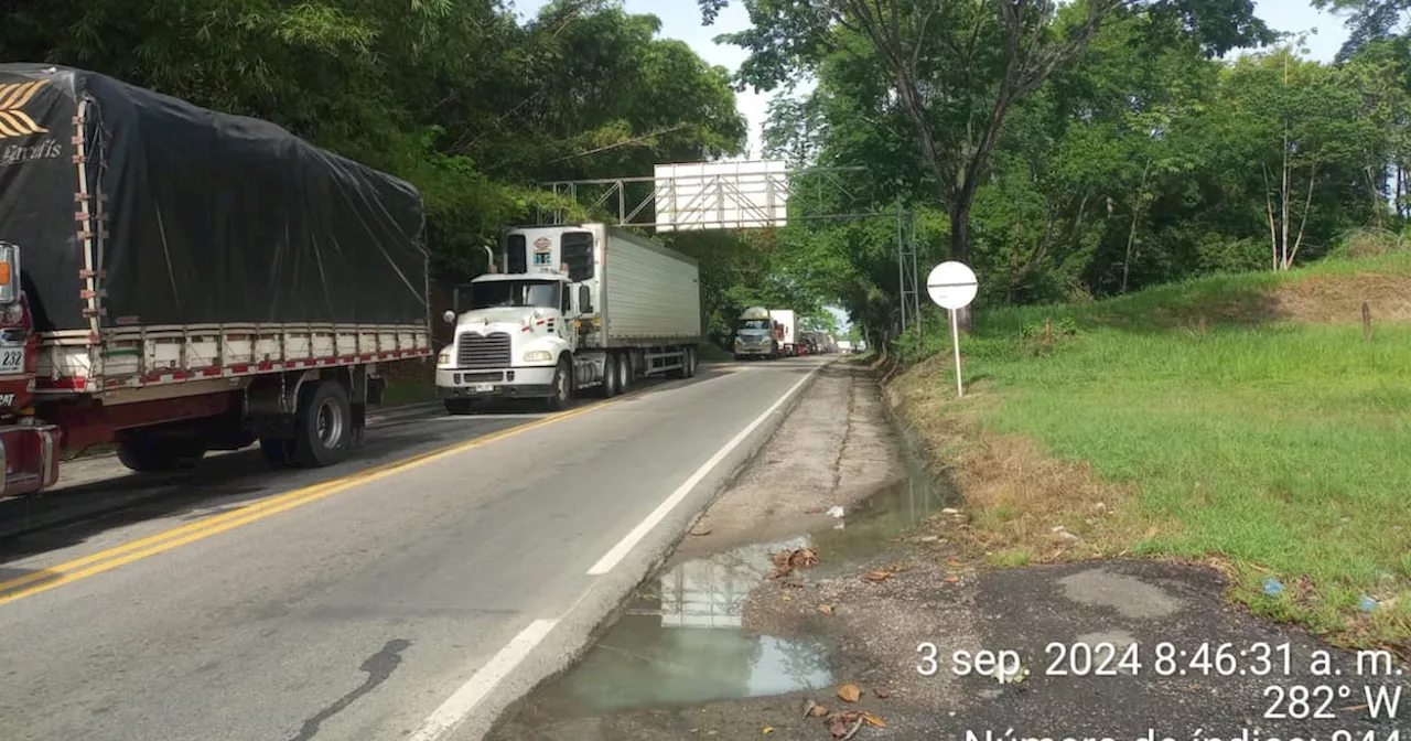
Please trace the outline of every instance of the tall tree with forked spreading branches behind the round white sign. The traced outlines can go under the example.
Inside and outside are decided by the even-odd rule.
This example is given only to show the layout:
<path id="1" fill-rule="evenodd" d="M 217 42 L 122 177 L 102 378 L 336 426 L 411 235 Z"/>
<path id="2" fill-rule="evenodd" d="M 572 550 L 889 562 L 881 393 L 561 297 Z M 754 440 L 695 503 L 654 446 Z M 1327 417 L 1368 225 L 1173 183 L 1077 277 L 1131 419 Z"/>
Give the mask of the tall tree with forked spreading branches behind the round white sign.
<path id="1" fill-rule="evenodd" d="M 700 0 L 707 23 L 728 0 Z M 885 117 L 904 120 L 950 215 L 950 254 L 969 260 L 975 193 L 1015 106 L 1071 64 L 1105 21 L 1139 16 L 1150 38 L 1195 35 L 1211 54 L 1271 34 L 1249 0 L 745 0 L 753 28 L 741 82 L 775 89 L 851 58 Z M 968 318 L 968 312 L 967 318 Z"/>

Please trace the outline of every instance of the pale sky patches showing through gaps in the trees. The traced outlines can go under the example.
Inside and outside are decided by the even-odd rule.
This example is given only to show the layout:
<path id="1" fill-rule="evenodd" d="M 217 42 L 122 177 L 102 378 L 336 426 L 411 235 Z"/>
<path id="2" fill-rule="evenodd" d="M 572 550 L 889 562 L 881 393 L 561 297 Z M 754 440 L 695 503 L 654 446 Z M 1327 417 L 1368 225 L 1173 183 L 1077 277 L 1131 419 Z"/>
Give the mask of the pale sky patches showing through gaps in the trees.
<path id="1" fill-rule="evenodd" d="M 515 10 L 525 17 L 535 16 L 547 0 L 512 0 Z M 684 41 L 710 64 L 721 65 L 731 72 L 745 61 L 745 51 L 738 47 L 715 44 L 718 34 L 741 31 L 749 27 L 749 16 L 737 1 L 720 13 L 713 25 L 701 25 L 700 8 L 696 0 L 622 0 L 632 14 L 653 14 L 662 20 L 663 38 Z M 1254 0 L 1256 14 L 1278 31 L 1308 32 L 1308 52 L 1315 59 L 1331 61 L 1348 31 L 1342 20 L 1331 13 L 1314 10 L 1308 0 Z M 737 95 L 739 112 L 749 120 L 749 148 L 738 159 L 761 159 L 761 133 L 769 112 L 769 95 L 751 90 Z M 847 325 L 847 316 L 832 309 L 838 316 L 840 329 Z"/>

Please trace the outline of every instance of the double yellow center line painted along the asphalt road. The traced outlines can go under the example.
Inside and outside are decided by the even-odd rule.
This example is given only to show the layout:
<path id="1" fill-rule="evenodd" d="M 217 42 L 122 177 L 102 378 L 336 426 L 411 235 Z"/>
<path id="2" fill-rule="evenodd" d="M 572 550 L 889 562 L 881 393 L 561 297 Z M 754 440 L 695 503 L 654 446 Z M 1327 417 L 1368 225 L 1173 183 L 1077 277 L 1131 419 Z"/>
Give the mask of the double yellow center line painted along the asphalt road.
<path id="1" fill-rule="evenodd" d="M 80 559 L 73 559 L 58 566 L 42 569 L 8 582 L 0 582 L 0 604 L 13 603 L 16 600 L 31 597 L 40 594 L 41 591 L 48 591 L 63 584 L 78 582 L 80 579 L 87 579 L 93 574 L 100 574 L 103 572 L 117 569 L 126 563 L 133 563 L 134 560 L 141 560 L 148 556 L 161 553 L 164 550 L 171 550 L 174 548 L 183 546 L 186 543 L 200 541 L 202 538 L 209 538 L 212 535 L 226 532 L 229 529 L 238 528 L 241 525 L 248 525 L 257 519 L 264 519 L 270 515 L 284 512 L 286 510 L 293 510 L 309 504 L 312 501 L 322 500 L 325 497 L 332 497 L 340 491 L 349 488 L 368 484 L 380 478 L 387 478 L 402 473 L 408 469 L 416 466 L 425 466 L 428 463 L 442 460 L 444 457 L 480 447 L 483 445 L 492 443 L 495 440 L 502 440 L 512 435 L 519 435 L 521 432 L 528 432 L 531 429 L 542 428 L 559 422 L 560 419 L 567 419 L 570 416 L 577 416 L 587 414 L 593 409 L 598 409 L 612 404 L 611 401 L 601 401 L 597 404 L 590 404 L 587 406 L 580 406 L 577 409 L 570 409 L 567 412 L 559 412 L 550 416 L 528 422 L 525 425 L 516 425 L 509 429 L 502 429 L 476 438 L 474 440 L 466 440 L 460 443 L 453 443 L 428 453 L 418 456 L 405 457 L 401 460 L 394 460 L 384 463 L 381 466 L 374 466 L 371 469 L 361 470 L 354 474 L 343 476 L 325 481 L 322 484 L 315 484 L 312 487 L 296 488 L 293 491 L 286 491 L 284 494 L 277 494 L 274 497 L 261 500 L 248 507 L 241 507 L 230 512 L 224 512 L 214 517 L 207 517 L 199 522 L 192 522 L 190 525 L 182 525 L 179 528 L 172 528 L 169 531 L 158 532 L 130 543 L 123 543 L 117 548 L 110 548 L 107 550 L 100 550 L 97 553 L 83 556 Z"/>

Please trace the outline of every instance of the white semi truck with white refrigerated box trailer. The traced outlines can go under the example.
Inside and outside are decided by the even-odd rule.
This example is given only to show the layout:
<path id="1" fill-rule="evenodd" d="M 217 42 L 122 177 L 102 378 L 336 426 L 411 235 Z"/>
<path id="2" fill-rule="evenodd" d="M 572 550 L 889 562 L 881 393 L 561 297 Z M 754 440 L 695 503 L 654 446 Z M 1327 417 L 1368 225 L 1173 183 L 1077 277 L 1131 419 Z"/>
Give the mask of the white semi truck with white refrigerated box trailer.
<path id="1" fill-rule="evenodd" d="M 443 315 L 454 325 L 436 357 L 447 414 L 508 399 L 563 409 L 586 390 L 611 398 L 645 377 L 696 375 L 696 260 L 612 224 L 579 223 L 509 229 L 491 265 L 453 292 Z"/>

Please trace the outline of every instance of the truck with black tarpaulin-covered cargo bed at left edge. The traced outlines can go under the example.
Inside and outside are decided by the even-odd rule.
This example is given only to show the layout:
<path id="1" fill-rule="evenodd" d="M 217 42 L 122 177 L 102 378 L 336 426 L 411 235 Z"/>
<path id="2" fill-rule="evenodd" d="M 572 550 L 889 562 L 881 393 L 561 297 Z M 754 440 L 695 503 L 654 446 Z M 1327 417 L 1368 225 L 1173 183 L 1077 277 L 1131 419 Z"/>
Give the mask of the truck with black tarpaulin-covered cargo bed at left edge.
<path id="1" fill-rule="evenodd" d="M 0 65 L 0 495 L 116 443 L 347 457 L 382 361 L 432 356 L 420 195 L 284 128 Z"/>

